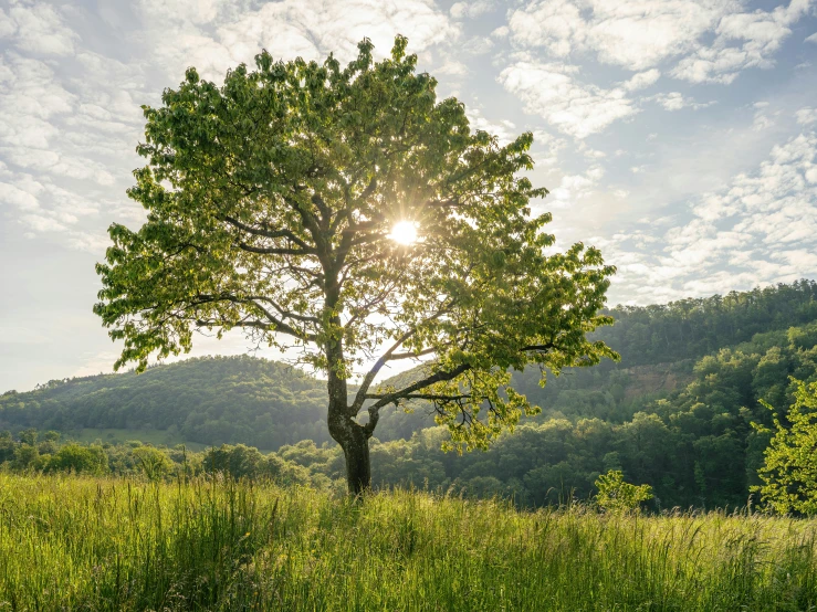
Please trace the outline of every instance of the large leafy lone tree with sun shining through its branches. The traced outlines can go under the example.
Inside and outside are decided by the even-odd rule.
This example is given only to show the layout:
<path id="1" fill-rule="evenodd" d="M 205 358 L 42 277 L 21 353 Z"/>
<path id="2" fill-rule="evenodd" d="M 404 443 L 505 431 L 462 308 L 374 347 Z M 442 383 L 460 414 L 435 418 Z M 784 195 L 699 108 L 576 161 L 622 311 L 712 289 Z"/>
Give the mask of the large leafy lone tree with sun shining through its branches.
<path id="1" fill-rule="evenodd" d="M 547 193 L 517 176 L 532 135 L 471 130 L 406 44 L 374 62 L 364 40 L 346 67 L 263 52 L 221 87 L 189 68 L 144 107 L 128 196 L 147 222 L 113 224 L 97 264 L 117 369 L 188 351 L 196 328 L 243 328 L 324 372 L 352 493 L 370 484 L 383 407 L 428 400 L 449 446 L 485 447 L 538 411 L 512 370 L 538 365 L 544 383 L 617 357 L 585 337 L 611 323 L 598 309 L 614 268 L 583 244 L 548 254 L 551 215 L 531 213 Z M 378 386 L 400 360 L 417 360 L 413 382 Z"/>

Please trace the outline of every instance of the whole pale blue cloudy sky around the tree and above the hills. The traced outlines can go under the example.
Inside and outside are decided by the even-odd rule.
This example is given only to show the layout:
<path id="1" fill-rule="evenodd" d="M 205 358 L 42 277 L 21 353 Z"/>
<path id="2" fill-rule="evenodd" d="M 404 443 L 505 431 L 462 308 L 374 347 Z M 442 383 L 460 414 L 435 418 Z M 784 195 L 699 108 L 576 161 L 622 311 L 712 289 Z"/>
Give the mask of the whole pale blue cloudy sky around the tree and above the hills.
<path id="1" fill-rule="evenodd" d="M 534 210 L 617 266 L 611 305 L 817 277 L 817 0 L 0 0 L 0 392 L 111 371 L 94 264 L 144 220 L 142 105 L 398 33 L 473 126 L 534 133 Z"/>

